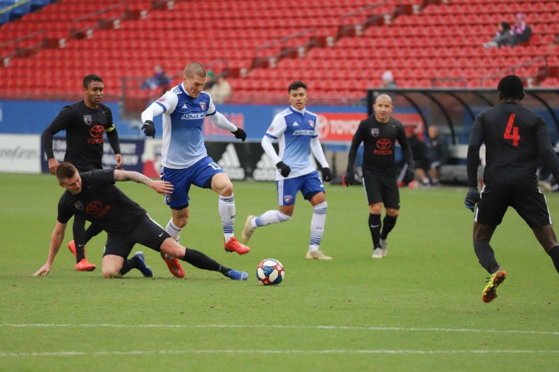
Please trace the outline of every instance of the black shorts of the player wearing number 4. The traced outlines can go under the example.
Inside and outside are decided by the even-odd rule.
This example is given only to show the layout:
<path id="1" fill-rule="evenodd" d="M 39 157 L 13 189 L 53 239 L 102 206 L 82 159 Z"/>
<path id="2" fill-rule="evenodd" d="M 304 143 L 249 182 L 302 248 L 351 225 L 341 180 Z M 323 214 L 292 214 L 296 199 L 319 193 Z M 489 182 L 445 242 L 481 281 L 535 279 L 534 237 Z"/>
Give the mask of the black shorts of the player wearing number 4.
<path id="1" fill-rule="evenodd" d="M 498 185 L 481 188 L 474 221 L 497 226 L 502 222 L 508 207 L 513 207 L 530 228 L 551 225 L 551 215 L 546 197 L 534 185 Z"/>

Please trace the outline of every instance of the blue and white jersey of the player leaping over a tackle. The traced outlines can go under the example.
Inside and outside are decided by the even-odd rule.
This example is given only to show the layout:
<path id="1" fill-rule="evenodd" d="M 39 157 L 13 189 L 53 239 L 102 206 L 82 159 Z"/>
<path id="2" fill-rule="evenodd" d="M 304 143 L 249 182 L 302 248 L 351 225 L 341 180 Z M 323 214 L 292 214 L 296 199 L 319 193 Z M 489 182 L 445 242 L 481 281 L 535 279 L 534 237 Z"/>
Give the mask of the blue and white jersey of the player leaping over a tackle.
<path id="1" fill-rule="evenodd" d="M 156 103 L 164 110 L 161 164 L 167 168 L 187 168 L 208 156 L 203 124 L 205 117 L 216 113 L 210 95 L 203 91 L 198 98 L 192 98 L 179 84 Z"/>

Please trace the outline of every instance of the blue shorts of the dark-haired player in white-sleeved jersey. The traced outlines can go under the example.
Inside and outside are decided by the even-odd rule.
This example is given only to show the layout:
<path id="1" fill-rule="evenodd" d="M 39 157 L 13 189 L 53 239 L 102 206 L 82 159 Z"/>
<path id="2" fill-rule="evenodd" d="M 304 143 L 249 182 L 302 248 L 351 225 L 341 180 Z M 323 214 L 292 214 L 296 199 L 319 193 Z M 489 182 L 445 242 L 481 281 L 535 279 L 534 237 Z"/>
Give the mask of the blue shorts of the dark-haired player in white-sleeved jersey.
<path id="1" fill-rule="evenodd" d="M 320 179 L 320 174 L 316 170 L 305 174 L 303 176 L 280 179 L 275 181 L 277 186 L 277 204 L 278 205 L 293 205 L 297 192 L 303 194 L 303 198 L 311 200 L 314 195 L 324 191 L 324 184 Z"/>

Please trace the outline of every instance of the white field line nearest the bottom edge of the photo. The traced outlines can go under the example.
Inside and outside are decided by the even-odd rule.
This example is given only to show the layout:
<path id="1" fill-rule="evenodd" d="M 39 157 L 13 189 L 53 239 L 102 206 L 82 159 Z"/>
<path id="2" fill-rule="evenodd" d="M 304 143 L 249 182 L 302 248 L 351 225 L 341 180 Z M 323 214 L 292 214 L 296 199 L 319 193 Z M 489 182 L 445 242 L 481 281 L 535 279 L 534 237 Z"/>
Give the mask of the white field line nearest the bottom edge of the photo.
<path id="1" fill-rule="evenodd" d="M 180 354 L 399 354 L 399 355 L 467 355 L 467 354 L 537 354 L 557 355 L 559 350 L 131 350 L 131 351 L 60 351 L 0 352 L 0 357 L 82 357 L 85 355 L 180 355 Z"/>

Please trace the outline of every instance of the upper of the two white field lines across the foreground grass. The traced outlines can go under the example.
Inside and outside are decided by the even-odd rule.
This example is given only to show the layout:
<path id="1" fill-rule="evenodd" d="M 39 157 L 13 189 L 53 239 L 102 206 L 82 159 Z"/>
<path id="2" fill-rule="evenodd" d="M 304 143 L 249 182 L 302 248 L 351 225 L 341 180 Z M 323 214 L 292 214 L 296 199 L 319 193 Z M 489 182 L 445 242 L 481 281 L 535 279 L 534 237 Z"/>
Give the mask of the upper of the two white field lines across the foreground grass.
<path id="1" fill-rule="evenodd" d="M 357 330 L 357 331 L 400 331 L 400 332 L 472 332 L 491 334 L 539 334 L 559 336 L 559 331 L 526 331 L 521 329 L 472 329 L 472 328 L 416 328 L 416 327 L 347 327 L 335 325 L 157 325 L 157 324 L 0 324 L 1 328 L 32 328 L 32 327 L 107 327 L 107 328 L 261 328 L 261 329 L 332 329 L 332 330 Z"/>

